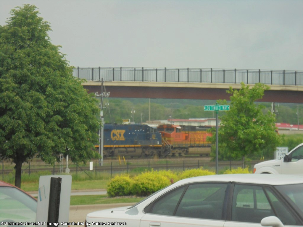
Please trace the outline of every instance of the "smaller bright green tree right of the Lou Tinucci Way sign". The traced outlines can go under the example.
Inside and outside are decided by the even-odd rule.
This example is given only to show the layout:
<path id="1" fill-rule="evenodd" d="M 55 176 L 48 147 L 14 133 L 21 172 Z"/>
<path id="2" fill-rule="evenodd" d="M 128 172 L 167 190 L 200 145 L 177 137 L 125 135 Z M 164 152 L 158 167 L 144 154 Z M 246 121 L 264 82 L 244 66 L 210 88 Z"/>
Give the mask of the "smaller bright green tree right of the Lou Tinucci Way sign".
<path id="1" fill-rule="evenodd" d="M 222 159 L 242 159 L 254 155 L 266 156 L 275 150 L 281 138 L 275 132 L 275 115 L 268 111 L 263 113 L 263 105 L 254 102 L 260 100 L 269 87 L 255 84 L 252 88 L 244 83 L 241 89 L 230 87 L 230 110 L 221 117 L 218 129 L 219 153 Z M 219 100 L 226 104 L 226 100 Z M 215 133 L 211 137 L 215 142 Z"/>

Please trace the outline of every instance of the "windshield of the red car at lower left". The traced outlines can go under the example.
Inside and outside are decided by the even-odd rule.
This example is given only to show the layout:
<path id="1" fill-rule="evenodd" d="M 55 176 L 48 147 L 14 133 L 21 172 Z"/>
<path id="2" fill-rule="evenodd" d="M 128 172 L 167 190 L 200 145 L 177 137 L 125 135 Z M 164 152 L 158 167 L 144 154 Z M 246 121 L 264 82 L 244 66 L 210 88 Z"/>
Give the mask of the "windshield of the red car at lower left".
<path id="1" fill-rule="evenodd" d="M 0 187 L 0 222 L 35 222 L 37 201 L 14 187 Z"/>

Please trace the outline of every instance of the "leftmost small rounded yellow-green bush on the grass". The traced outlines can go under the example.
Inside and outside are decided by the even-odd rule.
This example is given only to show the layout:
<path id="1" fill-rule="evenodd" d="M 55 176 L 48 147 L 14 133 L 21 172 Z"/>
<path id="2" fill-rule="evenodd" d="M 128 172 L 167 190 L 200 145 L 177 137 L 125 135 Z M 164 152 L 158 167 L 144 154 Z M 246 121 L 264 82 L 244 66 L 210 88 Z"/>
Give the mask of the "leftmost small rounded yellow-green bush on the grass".
<path id="1" fill-rule="evenodd" d="M 109 197 L 131 195 L 133 179 L 128 175 L 122 174 L 115 176 L 107 185 Z"/>

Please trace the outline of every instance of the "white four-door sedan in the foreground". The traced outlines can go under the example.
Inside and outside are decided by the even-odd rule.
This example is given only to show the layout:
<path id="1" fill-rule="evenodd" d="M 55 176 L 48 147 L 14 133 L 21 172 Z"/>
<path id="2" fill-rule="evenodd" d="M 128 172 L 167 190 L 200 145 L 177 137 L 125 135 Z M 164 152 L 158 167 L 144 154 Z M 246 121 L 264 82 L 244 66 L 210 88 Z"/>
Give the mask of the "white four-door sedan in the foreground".
<path id="1" fill-rule="evenodd" d="M 131 227 L 303 226 L 303 176 L 231 174 L 183 179 L 134 206 L 89 213 L 86 224 Z"/>

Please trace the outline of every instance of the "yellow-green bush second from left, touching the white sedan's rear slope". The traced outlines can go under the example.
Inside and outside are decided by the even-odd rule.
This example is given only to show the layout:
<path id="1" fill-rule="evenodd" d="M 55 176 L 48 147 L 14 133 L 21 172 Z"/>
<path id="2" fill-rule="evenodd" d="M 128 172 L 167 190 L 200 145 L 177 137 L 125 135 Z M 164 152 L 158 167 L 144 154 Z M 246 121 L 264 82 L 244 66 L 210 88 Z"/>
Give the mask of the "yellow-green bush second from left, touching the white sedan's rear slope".
<path id="1" fill-rule="evenodd" d="M 159 174 L 159 172 L 145 172 L 134 177 L 132 194 L 148 196 L 170 184 L 170 179 Z"/>

